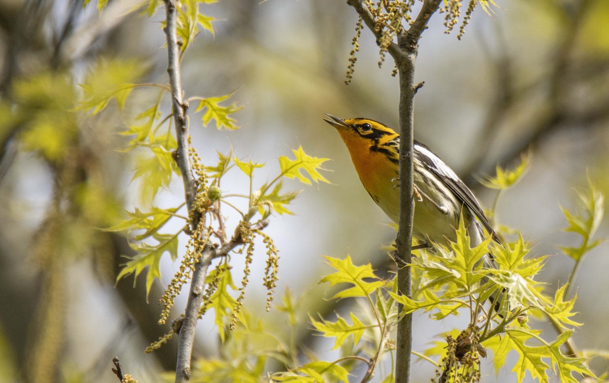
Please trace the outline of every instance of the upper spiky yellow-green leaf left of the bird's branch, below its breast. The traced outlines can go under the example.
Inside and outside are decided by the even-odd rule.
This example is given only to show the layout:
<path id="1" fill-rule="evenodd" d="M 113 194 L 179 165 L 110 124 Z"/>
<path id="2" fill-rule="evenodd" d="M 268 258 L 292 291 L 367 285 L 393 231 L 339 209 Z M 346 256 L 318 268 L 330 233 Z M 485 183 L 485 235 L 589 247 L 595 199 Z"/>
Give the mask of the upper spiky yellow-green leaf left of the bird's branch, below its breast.
<path id="1" fill-rule="evenodd" d="M 351 257 L 347 255 L 347 258 L 340 260 L 338 258 L 331 258 L 324 256 L 323 258 L 328 260 L 328 264 L 336 269 L 336 273 L 326 275 L 320 281 L 320 283 L 329 282 L 330 286 L 334 286 L 339 283 L 352 284 L 352 287 L 341 290 L 334 295 L 334 298 L 347 298 L 347 297 L 367 297 L 368 294 L 373 292 L 385 284 L 381 281 L 372 270 L 372 266 L 368 263 L 362 266 L 355 266 L 351 261 Z M 375 279 L 374 281 L 367 282 L 364 278 Z"/>

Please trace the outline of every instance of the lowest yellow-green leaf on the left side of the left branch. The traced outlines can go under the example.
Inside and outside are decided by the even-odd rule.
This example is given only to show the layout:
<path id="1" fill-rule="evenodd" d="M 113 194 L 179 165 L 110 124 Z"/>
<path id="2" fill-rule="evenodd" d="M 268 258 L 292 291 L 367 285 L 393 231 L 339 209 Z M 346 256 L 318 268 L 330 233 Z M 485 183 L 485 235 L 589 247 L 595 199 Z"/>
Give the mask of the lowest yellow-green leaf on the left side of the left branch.
<path id="1" fill-rule="evenodd" d="M 178 256 L 178 234 L 154 234 L 154 239 L 158 241 L 157 245 L 149 245 L 144 242 L 141 244 L 130 244 L 133 250 L 138 251 L 139 255 L 124 264 L 121 272 L 116 276 L 118 282 L 124 276 L 135 273 L 135 277 L 139 275 L 146 267 L 148 272 L 146 274 L 146 300 L 150 293 L 150 287 L 155 278 L 161 279 L 161 270 L 159 269 L 159 262 L 161 256 L 165 251 L 171 256 L 171 260 L 175 261 Z M 136 278 L 133 278 L 133 286 L 135 287 Z"/>

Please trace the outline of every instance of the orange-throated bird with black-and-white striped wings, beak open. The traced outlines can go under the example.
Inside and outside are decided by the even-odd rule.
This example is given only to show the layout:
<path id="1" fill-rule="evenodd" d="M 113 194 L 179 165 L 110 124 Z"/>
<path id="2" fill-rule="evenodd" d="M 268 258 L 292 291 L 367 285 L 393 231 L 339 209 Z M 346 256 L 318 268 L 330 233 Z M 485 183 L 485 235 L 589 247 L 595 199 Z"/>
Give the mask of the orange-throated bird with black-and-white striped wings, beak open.
<path id="1" fill-rule="evenodd" d="M 335 127 L 345 142 L 370 197 L 398 223 L 400 135 L 371 119 L 326 116 L 329 119 L 324 121 Z M 415 212 L 412 236 L 418 241 L 417 248 L 430 247 L 431 242 L 448 247 L 448 241 L 455 242 L 461 216 L 471 244 L 482 242 L 481 224 L 501 244 L 476 197 L 457 174 L 420 142 L 415 141 L 413 149 Z M 487 261 L 487 266 L 493 267 L 493 262 Z"/>

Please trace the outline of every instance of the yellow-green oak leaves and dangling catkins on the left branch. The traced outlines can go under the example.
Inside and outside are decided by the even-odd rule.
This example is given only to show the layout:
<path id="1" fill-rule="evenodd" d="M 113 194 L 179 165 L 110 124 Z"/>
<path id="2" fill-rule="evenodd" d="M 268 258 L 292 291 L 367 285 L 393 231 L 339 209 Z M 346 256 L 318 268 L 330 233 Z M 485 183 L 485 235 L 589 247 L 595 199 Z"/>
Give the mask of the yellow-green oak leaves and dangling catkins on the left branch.
<path id="1" fill-rule="evenodd" d="M 183 57 L 186 49 L 194 44 L 195 37 L 202 30 L 214 34 L 212 25 L 214 18 L 200 12 L 200 4 L 214 2 L 216 0 L 186 0 L 167 4 L 168 7 L 175 7 L 177 12 L 180 58 Z M 161 4 L 162 1 L 150 0 L 144 13 L 152 15 Z M 99 1 L 97 5 L 101 10 L 107 2 Z M 199 314 L 203 315 L 209 309 L 213 309 L 220 338 L 225 340 L 227 322 L 230 322 L 230 327 L 233 328 L 238 320 L 242 320 L 242 299 L 248 283 L 256 236 L 261 237 L 267 253 L 263 284 L 268 290 L 267 309 L 270 308 L 272 292 L 276 287 L 279 256 L 272 238 L 261 230 L 266 227 L 267 219 L 273 213 L 293 214 L 288 205 L 298 195 L 298 191 L 286 191 L 283 179 L 295 178 L 309 185 L 313 182 L 328 182 L 320 174 L 326 159 L 309 156 L 299 147 L 293 151 L 294 158 L 281 156 L 278 159 L 279 174 L 259 187 L 255 187 L 255 169 L 263 167 L 264 164 L 241 160 L 233 152 L 218 152 L 217 163 L 203 164 L 197 150 L 192 147 L 189 136 L 186 138 L 188 140 L 186 147 L 183 140 L 180 140 L 178 148 L 177 137 L 172 127 L 175 111 L 164 112 L 167 110 L 166 105 L 172 104 L 170 86 L 130 81 L 125 73 L 132 73 L 133 76 L 136 69 L 141 73 L 141 66 L 133 65 L 132 68 L 132 66 L 115 65 L 113 61 L 100 61 L 97 66 L 91 68 L 80 84 L 83 97 L 75 108 L 93 116 L 105 110 L 111 100 L 116 100 L 119 110 L 123 111 L 133 91 L 146 92 L 146 95 L 150 90 L 158 92 L 154 94 L 155 101 L 152 105 L 143 111 L 132 113 L 136 115 L 135 118 L 125 118 L 127 129 L 121 132 L 122 135 L 130 137 L 123 152 L 136 156 L 132 180 L 141 183 L 141 201 L 144 205 L 152 205 L 152 207 L 127 211 L 127 219 L 107 229 L 127 232 L 130 246 L 137 253 L 136 256 L 128 258 L 117 276 L 117 281 L 131 274 L 138 276 L 146 270 L 146 291 L 149 293 L 153 281 L 160 279 L 161 258 L 165 253 L 169 253 L 171 260 L 175 261 L 182 241 L 180 234 L 188 234 L 185 256 L 181 259 L 180 267 L 161 299 L 164 309 L 160 323 L 166 322 L 175 297 L 180 293 L 181 287 L 188 283 L 195 264 L 207 251 L 211 254 L 211 259 L 219 258 L 220 261 L 216 269 L 207 275 Z M 99 72 L 107 73 L 108 76 L 100 77 Z M 228 104 L 228 99 L 232 95 L 233 93 L 213 97 L 194 96 L 187 99 L 182 107 L 186 110 L 189 104 L 197 102 L 192 113 L 202 112 L 200 121 L 203 126 L 215 124 L 218 129 L 236 130 L 238 124 L 234 114 L 242 107 L 235 102 Z M 187 116 L 186 124 L 189 123 L 190 119 Z M 180 132 L 182 130 L 180 128 Z M 195 178 L 194 203 L 189 200 L 189 204 L 193 206 L 186 206 L 186 203 L 172 208 L 154 206 L 153 200 L 158 191 L 169 188 L 174 174 L 180 175 L 176 159 L 183 158 L 181 156 L 188 156 L 192 175 Z M 247 192 L 228 194 L 222 190 L 222 178 L 232 167 L 236 167 L 247 176 L 248 186 L 245 186 Z M 236 202 L 239 199 L 247 201 L 245 208 L 242 208 L 243 203 Z M 228 234 L 230 232 L 222 214 L 225 208 L 234 209 L 241 216 L 232 236 Z M 180 230 L 167 233 L 168 223 L 175 220 L 181 221 L 178 224 Z M 239 288 L 233 283 L 229 264 L 230 256 L 235 254 L 245 255 L 244 278 Z M 233 296 L 235 294 L 238 294 L 236 298 Z M 148 351 L 157 348 L 175 334 L 179 325 L 174 327 L 172 332 L 153 344 Z"/>

